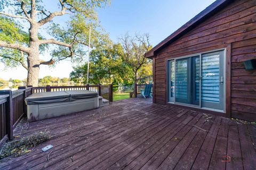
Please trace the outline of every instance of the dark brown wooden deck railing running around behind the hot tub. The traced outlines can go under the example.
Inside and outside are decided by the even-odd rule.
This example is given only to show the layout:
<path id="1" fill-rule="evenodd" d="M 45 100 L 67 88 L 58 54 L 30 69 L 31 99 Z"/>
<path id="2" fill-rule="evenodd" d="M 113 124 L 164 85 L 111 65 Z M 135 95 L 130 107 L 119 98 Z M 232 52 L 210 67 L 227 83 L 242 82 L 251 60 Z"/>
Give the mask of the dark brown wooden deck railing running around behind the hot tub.
<path id="1" fill-rule="evenodd" d="M 0 146 L 7 140 L 13 139 L 13 129 L 21 117 L 27 114 L 25 98 L 33 93 L 63 90 L 90 90 L 99 93 L 99 96 L 113 101 L 113 86 L 89 85 L 86 86 L 45 86 L 19 87 L 18 90 L 0 90 Z"/>

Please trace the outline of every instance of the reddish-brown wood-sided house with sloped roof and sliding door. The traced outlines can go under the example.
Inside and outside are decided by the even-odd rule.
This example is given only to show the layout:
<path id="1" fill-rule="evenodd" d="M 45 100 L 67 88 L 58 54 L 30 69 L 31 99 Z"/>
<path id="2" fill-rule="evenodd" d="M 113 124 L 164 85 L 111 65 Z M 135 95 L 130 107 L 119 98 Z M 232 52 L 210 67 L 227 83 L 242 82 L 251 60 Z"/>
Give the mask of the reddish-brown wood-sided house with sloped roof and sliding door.
<path id="1" fill-rule="evenodd" d="M 256 0 L 215 1 L 145 56 L 155 103 L 256 121 Z"/>

